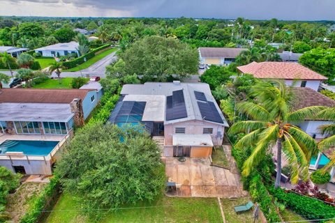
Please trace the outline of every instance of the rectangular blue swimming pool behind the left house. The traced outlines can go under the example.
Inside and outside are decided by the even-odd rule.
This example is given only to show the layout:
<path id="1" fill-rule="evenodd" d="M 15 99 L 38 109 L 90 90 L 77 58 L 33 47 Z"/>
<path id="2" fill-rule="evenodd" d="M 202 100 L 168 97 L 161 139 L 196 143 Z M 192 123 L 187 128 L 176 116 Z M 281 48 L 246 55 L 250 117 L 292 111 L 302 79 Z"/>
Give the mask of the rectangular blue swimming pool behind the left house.
<path id="1" fill-rule="evenodd" d="M 6 140 L 0 144 L 0 154 L 22 152 L 24 155 L 48 155 L 59 141 Z"/>

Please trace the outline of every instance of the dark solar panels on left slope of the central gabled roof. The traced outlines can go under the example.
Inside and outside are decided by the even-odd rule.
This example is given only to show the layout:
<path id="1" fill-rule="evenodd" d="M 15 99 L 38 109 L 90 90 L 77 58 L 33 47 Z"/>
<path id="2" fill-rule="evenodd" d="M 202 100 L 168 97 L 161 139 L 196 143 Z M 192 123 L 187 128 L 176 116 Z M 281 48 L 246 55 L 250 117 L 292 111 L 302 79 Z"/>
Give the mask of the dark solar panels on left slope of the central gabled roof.
<path id="1" fill-rule="evenodd" d="M 172 91 L 172 95 L 166 97 L 166 120 L 186 118 L 186 105 L 183 90 Z"/>

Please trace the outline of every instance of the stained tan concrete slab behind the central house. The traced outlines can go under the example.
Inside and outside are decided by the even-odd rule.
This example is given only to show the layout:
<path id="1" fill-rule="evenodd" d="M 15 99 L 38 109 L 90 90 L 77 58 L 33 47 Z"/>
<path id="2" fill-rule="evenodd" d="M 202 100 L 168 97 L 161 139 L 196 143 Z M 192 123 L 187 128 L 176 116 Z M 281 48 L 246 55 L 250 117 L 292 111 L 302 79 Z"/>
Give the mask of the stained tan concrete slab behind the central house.
<path id="1" fill-rule="evenodd" d="M 180 185 L 178 197 L 244 197 L 239 174 L 211 166 L 209 158 L 166 157 L 165 174 Z"/>

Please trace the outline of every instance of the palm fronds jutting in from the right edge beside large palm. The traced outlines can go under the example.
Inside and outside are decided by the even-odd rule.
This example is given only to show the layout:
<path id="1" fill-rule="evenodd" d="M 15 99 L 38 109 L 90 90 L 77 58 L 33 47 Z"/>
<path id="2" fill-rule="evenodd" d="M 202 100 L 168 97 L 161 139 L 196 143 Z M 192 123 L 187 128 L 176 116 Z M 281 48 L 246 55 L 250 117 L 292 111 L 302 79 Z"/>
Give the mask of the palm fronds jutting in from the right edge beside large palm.
<path id="1" fill-rule="evenodd" d="M 329 120 L 335 122 L 335 107 L 329 107 L 323 110 L 318 114 L 319 117 L 322 117 L 323 120 Z M 326 139 L 322 139 L 318 146 L 320 150 L 326 150 L 332 146 L 335 146 L 335 123 L 329 124 L 329 125 L 321 125 L 320 130 L 322 134 L 329 134 L 330 137 L 327 137 Z M 332 153 L 330 157 L 330 162 L 327 163 L 324 167 L 324 170 L 327 171 L 329 167 L 332 167 L 335 165 L 335 152 Z"/>

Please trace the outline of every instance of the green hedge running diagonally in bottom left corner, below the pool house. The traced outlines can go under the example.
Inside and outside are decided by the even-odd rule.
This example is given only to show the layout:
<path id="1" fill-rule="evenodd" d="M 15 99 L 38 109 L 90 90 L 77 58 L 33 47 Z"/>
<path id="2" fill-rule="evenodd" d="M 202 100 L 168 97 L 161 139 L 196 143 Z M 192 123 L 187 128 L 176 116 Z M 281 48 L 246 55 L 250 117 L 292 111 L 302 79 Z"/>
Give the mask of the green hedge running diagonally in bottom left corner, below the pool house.
<path id="1" fill-rule="evenodd" d="M 60 189 L 59 177 L 54 176 L 54 178 L 50 179 L 50 183 L 45 187 L 43 192 L 36 197 L 34 203 L 31 205 L 31 208 L 27 211 L 27 213 L 20 220 L 21 223 L 34 223 L 39 222 L 43 213 L 43 210 L 47 208 L 49 202 L 53 202 L 57 200 L 55 195 L 59 193 Z"/>

